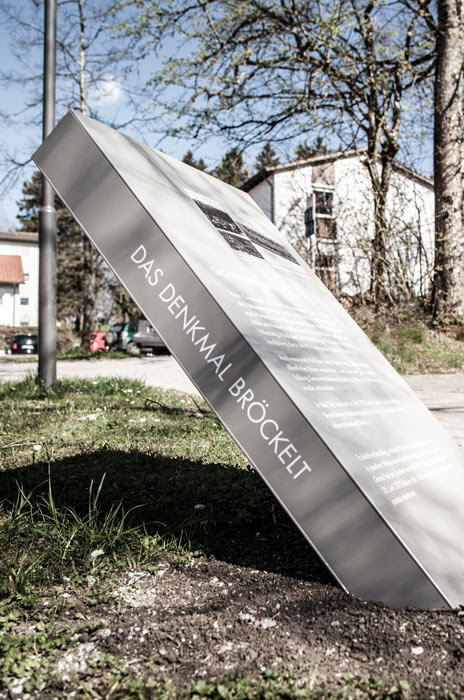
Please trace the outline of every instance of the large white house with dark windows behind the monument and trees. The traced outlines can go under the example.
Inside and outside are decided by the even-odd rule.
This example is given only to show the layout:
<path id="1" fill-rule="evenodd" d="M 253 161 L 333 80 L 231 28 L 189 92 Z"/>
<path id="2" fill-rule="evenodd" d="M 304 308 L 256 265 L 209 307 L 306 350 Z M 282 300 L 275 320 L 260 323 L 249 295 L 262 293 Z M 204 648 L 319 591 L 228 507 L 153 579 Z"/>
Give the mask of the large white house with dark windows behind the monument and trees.
<path id="1" fill-rule="evenodd" d="M 284 163 L 243 187 L 325 284 L 342 294 L 362 295 L 370 285 L 374 203 L 365 158 L 361 149 Z M 394 296 L 424 296 L 433 268 L 433 181 L 396 163 L 387 217 L 387 287 Z"/>

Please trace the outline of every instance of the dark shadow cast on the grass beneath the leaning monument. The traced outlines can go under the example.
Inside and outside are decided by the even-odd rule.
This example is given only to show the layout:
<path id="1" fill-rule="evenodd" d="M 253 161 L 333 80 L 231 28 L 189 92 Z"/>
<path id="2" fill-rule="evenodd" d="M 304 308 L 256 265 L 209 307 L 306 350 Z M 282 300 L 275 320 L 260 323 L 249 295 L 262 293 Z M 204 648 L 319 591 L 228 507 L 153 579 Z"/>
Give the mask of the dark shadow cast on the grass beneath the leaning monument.
<path id="1" fill-rule="evenodd" d="M 48 491 L 58 507 L 85 514 L 89 488 L 104 478 L 102 516 L 121 502 L 133 525 L 172 534 L 193 552 L 321 583 L 334 583 L 317 554 L 250 467 L 204 464 L 143 452 L 100 450 L 0 472 L 0 499 L 22 484 L 32 501 Z"/>

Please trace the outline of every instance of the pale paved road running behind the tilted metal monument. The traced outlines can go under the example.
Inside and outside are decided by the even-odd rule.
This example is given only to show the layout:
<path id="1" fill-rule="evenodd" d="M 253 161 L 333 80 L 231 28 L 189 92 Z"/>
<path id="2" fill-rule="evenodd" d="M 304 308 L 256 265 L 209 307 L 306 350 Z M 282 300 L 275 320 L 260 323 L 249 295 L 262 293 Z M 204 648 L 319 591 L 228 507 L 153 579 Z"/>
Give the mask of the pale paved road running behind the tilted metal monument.
<path id="1" fill-rule="evenodd" d="M 36 371 L 36 362 L 0 360 L 0 381 L 21 379 Z M 59 379 L 128 377 L 163 389 L 198 393 L 170 355 L 128 357 L 124 360 L 113 360 L 110 357 L 101 360 L 60 360 L 57 363 L 57 374 Z M 405 379 L 458 444 L 464 447 L 464 373 L 410 375 Z"/>

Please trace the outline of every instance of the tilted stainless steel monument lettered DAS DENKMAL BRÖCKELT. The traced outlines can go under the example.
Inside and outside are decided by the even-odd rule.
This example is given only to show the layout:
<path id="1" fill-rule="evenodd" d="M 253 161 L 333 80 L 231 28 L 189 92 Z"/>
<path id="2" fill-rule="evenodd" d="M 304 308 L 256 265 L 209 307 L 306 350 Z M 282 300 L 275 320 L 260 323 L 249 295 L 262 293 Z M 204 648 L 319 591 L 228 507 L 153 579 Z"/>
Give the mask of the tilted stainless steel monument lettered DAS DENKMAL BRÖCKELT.
<path id="1" fill-rule="evenodd" d="M 349 592 L 464 603 L 464 459 L 245 193 L 70 112 L 34 159 Z"/>

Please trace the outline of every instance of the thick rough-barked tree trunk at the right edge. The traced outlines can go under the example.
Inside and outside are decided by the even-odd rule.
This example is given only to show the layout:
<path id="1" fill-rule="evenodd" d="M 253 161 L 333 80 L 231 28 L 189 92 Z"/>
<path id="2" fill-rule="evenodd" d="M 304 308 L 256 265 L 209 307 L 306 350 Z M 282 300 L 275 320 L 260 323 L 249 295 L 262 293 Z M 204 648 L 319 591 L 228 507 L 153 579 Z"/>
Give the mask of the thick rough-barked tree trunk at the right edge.
<path id="1" fill-rule="evenodd" d="M 438 0 L 434 103 L 435 266 L 432 311 L 436 321 L 464 316 L 461 0 Z"/>

